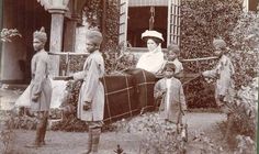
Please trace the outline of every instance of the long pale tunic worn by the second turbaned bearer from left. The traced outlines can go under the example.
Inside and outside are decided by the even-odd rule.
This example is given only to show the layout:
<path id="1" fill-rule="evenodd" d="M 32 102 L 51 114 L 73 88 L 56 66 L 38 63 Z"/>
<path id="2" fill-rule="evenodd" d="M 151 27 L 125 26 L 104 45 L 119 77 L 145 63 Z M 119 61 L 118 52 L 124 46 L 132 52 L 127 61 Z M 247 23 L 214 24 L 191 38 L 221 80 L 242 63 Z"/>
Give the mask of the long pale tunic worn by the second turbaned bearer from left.
<path id="1" fill-rule="evenodd" d="M 83 70 L 74 74 L 74 78 L 83 79 L 79 98 L 77 117 L 83 121 L 102 121 L 104 116 L 104 88 L 99 80 L 104 75 L 104 62 L 101 53 L 95 51 L 89 55 Z M 85 111 L 85 102 L 91 102 L 91 109 Z"/>

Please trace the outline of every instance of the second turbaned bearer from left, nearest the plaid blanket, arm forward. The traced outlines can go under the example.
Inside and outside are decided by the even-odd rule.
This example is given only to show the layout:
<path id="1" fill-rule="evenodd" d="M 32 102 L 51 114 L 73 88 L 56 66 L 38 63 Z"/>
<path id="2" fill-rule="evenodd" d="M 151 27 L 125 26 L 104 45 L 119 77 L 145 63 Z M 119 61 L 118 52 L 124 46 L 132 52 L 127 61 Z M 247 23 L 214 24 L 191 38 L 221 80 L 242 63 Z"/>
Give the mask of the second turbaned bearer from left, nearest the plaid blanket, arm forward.
<path id="1" fill-rule="evenodd" d="M 100 32 L 88 31 L 86 45 L 90 55 L 85 62 L 83 70 L 68 77 L 68 79 L 83 80 L 78 98 L 77 117 L 89 125 L 87 154 L 98 152 L 104 116 L 104 88 L 100 81 L 104 75 L 104 61 L 99 51 L 101 43 Z"/>

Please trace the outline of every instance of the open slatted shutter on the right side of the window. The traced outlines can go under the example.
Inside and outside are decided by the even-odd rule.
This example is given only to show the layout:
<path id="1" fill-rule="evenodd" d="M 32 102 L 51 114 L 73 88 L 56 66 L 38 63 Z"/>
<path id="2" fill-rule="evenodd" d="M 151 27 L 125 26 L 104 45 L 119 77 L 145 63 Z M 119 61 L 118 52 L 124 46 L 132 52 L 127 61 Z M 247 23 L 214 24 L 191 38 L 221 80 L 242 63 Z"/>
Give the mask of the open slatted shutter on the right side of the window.
<path id="1" fill-rule="evenodd" d="M 168 0 L 167 44 L 180 45 L 180 6 L 181 0 Z"/>

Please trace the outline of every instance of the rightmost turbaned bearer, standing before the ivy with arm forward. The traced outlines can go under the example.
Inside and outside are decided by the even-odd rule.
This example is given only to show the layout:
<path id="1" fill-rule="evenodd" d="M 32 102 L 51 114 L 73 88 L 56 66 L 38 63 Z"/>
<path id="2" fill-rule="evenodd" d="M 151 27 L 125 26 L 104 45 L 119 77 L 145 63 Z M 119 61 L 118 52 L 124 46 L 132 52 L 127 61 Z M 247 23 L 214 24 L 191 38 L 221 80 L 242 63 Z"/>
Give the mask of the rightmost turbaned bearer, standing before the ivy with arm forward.
<path id="1" fill-rule="evenodd" d="M 232 102 L 234 97 L 234 66 L 232 64 L 232 61 L 226 56 L 226 43 L 224 40 L 214 40 L 213 46 L 215 48 L 215 55 L 218 56 L 219 61 L 214 69 L 203 72 L 202 75 L 204 77 L 216 78 L 216 105 L 222 112 L 226 113 L 227 117 L 232 119 L 233 114 L 230 109 L 227 107 L 227 102 Z M 230 127 L 230 124 L 232 123 L 228 123 L 228 128 Z M 228 134 L 229 129 L 227 129 L 225 139 L 228 139 Z"/>

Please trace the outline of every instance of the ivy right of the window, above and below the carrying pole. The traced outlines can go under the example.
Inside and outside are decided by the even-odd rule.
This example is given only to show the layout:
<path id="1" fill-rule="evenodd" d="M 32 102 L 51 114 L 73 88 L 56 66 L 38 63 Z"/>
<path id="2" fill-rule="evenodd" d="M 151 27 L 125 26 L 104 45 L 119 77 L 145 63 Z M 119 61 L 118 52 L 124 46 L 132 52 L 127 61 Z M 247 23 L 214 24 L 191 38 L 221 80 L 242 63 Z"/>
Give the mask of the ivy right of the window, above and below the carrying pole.
<path id="1" fill-rule="evenodd" d="M 181 8 L 181 57 L 196 58 L 213 56 L 214 37 L 223 37 L 230 43 L 233 32 L 241 7 L 238 0 L 183 0 Z M 212 69 L 216 61 L 184 63 L 189 73 L 201 73 Z M 204 79 L 189 84 L 187 94 L 189 108 L 216 107 L 213 86 L 206 86 Z"/>

